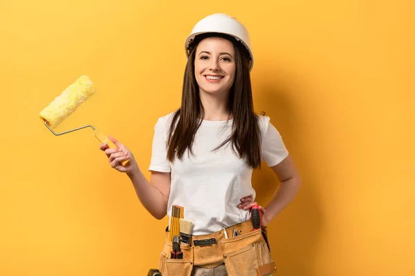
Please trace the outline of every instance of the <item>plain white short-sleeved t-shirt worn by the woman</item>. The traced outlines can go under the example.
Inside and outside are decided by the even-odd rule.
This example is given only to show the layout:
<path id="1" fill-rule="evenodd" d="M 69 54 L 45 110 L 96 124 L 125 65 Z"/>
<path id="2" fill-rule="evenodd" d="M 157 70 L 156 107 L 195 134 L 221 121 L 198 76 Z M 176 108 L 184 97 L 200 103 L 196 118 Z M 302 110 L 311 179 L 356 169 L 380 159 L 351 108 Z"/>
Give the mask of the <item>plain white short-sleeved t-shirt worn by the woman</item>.
<path id="1" fill-rule="evenodd" d="M 213 151 L 232 130 L 230 121 L 205 121 L 196 132 L 193 153 L 185 152 L 182 160 L 167 160 L 167 135 L 173 112 L 160 117 L 154 126 L 154 139 L 149 170 L 171 172 L 167 215 L 172 206 L 184 208 L 184 219 L 192 221 L 192 235 L 203 235 L 250 219 L 249 210 L 238 208 L 240 199 L 248 195 L 255 199 L 252 188 L 252 168 L 234 154 L 228 143 Z M 262 160 L 268 166 L 279 164 L 288 155 L 278 130 L 270 117 L 260 116 Z"/>

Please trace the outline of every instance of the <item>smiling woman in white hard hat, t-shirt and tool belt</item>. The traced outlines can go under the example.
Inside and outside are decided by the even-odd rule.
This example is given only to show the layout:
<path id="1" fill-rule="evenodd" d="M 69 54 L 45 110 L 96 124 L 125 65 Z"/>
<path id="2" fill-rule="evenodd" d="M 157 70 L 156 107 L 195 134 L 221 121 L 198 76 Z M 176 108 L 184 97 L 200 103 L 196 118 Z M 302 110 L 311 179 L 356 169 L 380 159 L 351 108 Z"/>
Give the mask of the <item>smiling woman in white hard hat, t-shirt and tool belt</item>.
<path id="1" fill-rule="evenodd" d="M 126 172 L 156 219 L 171 217 L 172 206 L 178 205 L 192 221 L 192 241 L 181 243 L 183 259 L 172 259 L 166 235 L 159 266 L 163 275 L 273 273 L 266 226 L 295 197 L 300 177 L 270 118 L 254 112 L 250 37 L 233 17 L 212 14 L 194 26 L 185 49 L 181 108 L 160 117 L 154 127 L 150 180 L 113 137 L 120 150 L 106 144 L 100 149 L 111 167 Z M 124 167 L 120 162 L 126 159 Z M 261 161 L 282 186 L 266 208 L 260 206 L 262 230 L 252 230 L 250 208 L 257 202 L 251 175 Z"/>

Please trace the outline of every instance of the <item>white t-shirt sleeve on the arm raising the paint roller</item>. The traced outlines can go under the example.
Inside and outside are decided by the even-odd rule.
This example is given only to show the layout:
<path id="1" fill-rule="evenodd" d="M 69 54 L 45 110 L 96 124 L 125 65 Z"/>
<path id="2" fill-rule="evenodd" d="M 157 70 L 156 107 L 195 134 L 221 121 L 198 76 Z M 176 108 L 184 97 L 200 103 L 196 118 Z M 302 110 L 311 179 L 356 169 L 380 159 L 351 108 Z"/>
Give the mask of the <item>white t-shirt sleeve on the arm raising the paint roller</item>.
<path id="1" fill-rule="evenodd" d="M 149 170 L 157 172 L 170 172 L 167 160 L 167 132 L 163 118 L 159 118 L 154 126 L 153 144 L 151 147 L 151 161 Z"/>

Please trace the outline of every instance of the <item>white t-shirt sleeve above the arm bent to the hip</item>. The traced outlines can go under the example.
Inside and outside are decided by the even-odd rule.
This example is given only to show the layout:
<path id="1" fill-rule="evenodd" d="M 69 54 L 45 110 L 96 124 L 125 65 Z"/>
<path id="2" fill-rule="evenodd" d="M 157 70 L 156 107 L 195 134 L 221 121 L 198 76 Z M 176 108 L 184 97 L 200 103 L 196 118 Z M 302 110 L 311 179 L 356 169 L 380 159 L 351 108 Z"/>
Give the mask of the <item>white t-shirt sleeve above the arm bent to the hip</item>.
<path id="1" fill-rule="evenodd" d="M 288 150 L 279 131 L 271 124 L 270 117 L 261 117 L 261 123 L 262 161 L 265 161 L 268 166 L 272 167 L 288 156 Z"/>

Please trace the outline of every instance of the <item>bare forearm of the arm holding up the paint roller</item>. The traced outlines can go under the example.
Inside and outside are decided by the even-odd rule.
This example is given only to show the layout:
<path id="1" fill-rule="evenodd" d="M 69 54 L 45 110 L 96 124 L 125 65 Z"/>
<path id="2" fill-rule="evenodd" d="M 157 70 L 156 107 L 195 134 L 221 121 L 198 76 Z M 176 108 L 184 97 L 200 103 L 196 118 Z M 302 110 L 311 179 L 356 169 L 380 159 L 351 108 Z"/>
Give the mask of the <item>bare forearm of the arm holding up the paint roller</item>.
<path id="1" fill-rule="evenodd" d="M 167 210 L 167 199 L 160 190 L 151 185 L 140 169 L 127 173 L 142 206 L 156 219 L 163 219 Z"/>

